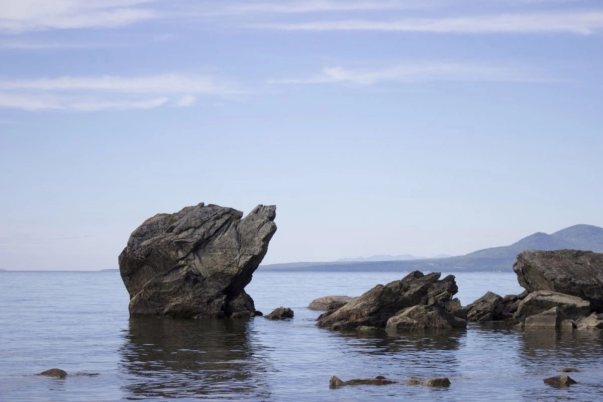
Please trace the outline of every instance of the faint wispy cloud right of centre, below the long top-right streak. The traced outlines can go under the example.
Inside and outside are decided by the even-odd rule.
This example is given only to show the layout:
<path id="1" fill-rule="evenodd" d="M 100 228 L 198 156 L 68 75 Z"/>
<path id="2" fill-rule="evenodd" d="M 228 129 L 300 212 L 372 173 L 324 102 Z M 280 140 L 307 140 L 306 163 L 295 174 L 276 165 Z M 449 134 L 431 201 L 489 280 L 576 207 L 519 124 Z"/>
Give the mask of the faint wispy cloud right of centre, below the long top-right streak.
<path id="1" fill-rule="evenodd" d="M 311 77 L 284 78 L 269 82 L 273 84 L 347 83 L 366 86 L 383 82 L 420 83 L 426 81 L 538 82 L 554 80 L 541 75 L 529 75 L 517 68 L 485 64 L 421 62 L 364 70 L 327 67 L 323 68 L 320 74 Z"/>

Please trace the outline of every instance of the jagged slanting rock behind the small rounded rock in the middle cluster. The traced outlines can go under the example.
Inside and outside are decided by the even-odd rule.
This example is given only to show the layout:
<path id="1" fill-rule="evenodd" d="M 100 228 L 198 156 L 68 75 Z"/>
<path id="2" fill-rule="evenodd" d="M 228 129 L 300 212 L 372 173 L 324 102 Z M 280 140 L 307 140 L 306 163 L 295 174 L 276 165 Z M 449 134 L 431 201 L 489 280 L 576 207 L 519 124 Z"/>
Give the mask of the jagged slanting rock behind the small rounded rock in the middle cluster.
<path id="1" fill-rule="evenodd" d="M 424 306 L 429 312 L 445 315 L 446 303 L 452 300 L 458 287 L 453 275 L 442 280 L 440 275 L 439 272 L 423 275 L 422 272 L 414 271 L 401 280 L 386 285 L 378 284 L 343 307 L 327 310 L 318 317 L 317 325 L 331 330 L 385 328 L 390 318 L 404 314 L 405 309 L 413 306 Z M 414 317 L 409 312 L 407 316 Z M 434 322 L 439 321 L 434 318 Z M 394 326 L 395 324 L 390 325 L 391 328 Z M 420 324 L 414 327 L 418 328 Z"/>

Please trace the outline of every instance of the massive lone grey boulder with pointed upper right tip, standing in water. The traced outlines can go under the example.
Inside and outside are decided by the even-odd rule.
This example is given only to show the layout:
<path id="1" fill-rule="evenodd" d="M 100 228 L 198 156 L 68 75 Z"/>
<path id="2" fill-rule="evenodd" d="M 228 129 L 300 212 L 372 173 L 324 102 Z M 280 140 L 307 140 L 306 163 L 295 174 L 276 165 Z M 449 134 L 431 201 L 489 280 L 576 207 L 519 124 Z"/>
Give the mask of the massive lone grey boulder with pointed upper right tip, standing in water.
<path id="1" fill-rule="evenodd" d="M 147 219 L 119 255 L 131 316 L 253 316 L 244 291 L 276 231 L 275 206 L 204 205 Z"/>

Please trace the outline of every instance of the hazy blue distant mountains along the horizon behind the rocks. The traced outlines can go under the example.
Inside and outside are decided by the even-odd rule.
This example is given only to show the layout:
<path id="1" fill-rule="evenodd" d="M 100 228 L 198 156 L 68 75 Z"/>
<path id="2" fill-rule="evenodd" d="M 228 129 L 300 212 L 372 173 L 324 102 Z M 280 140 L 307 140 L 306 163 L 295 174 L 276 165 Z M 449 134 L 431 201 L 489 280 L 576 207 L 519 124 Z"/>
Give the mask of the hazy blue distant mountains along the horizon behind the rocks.
<path id="1" fill-rule="evenodd" d="M 510 271 L 523 250 L 590 250 L 603 253 L 603 228 L 574 225 L 552 234 L 537 232 L 504 247 L 484 248 L 465 256 L 402 260 L 338 260 L 262 265 L 264 271 Z M 373 256 L 383 257 L 383 256 Z M 368 258 L 373 258 L 368 257 Z M 404 256 L 403 256 L 404 257 Z"/>

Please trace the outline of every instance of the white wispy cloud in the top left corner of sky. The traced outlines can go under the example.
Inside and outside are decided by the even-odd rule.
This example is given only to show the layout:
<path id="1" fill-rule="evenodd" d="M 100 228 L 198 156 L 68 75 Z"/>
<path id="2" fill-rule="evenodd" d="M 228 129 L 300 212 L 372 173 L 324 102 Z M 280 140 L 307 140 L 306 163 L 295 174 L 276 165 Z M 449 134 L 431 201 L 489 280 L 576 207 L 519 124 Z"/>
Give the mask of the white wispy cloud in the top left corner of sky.
<path id="1" fill-rule="evenodd" d="M 153 0 L 1 0 L 0 32 L 111 28 L 159 17 Z"/>

